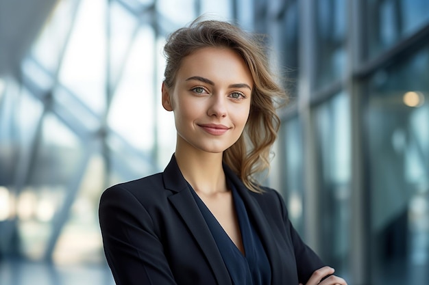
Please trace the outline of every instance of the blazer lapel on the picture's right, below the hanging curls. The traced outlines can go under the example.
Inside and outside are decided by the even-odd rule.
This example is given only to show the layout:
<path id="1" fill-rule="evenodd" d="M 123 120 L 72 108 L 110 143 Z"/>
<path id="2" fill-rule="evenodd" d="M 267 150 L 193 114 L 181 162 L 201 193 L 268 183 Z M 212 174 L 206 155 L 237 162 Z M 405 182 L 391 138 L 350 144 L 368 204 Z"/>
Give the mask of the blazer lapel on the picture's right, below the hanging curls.
<path id="1" fill-rule="evenodd" d="M 285 284 L 286 276 L 284 276 L 284 270 L 282 270 L 282 262 L 278 254 L 278 249 L 276 247 L 275 239 L 269 228 L 269 222 L 265 217 L 262 208 L 260 208 L 258 202 L 250 193 L 250 190 L 245 187 L 243 182 L 232 172 L 232 170 L 224 165 L 223 169 L 225 174 L 228 176 L 230 181 L 234 183 L 236 190 L 241 195 L 243 202 L 247 208 L 247 214 L 251 221 L 253 221 L 253 226 L 260 235 L 262 245 L 265 248 L 267 257 L 271 265 L 271 284 Z M 263 195 L 263 194 L 258 194 Z"/>

